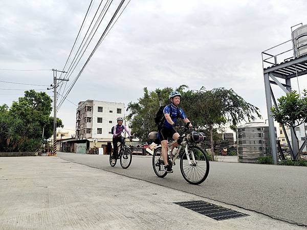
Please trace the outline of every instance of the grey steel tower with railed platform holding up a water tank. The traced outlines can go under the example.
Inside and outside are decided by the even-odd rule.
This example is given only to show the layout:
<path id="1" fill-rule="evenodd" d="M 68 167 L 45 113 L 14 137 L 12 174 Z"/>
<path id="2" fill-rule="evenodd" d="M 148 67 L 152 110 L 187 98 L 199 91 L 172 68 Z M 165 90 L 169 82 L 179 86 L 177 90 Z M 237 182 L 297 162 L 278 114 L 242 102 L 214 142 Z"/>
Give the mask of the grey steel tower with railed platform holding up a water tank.
<path id="1" fill-rule="evenodd" d="M 284 49 L 282 47 L 287 45 L 288 47 L 289 45 L 291 45 L 292 49 L 290 50 L 287 49 L 286 51 L 282 51 Z M 272 54 L 272 52 L 274 53 L 276 51 L 277 54 Z M 289 57 L 289 55 L 291 55 L 291 57 Z M 262 67 L 264 70 L 264 81 L 265 81 L 266 101 L 267 101 L 267 110 L 268 110 L 271 150 L 272 150 L 271 152 L 272 152 L 273 162 L 274 164 L 277 164 L 277 148 L 276 148 L 276 140 L 274 134 L 274 120 L 271 112 L 272 100 L 276 107 L 277 103 L 274 97 L 271 84 L 278 85 L 284 91 L 284 93 L 286 94 L 289 93 L 292 90 L 291 79 L 307 74 L 307 54 L 295 57 L 297 55 L 295 55 L 293 39 L 291 39 L 281 44 L 278 44 L 275 47 L 272 47 L 268 50 L 261 52 L 261 56 L 262 56 Z M 282 61 L 278 63 L 279 60 Z M 291 129 L 292 144 L 290 144 L 289 137 L 283 125 L 282 125 L 282 130 L 286 136 L 290 152 L 292 156 L 296 158 L 299 146 L 294 136 L 295 130 Z M 305 144 L 306 140 L 302 148 L 304 148 Z"/>

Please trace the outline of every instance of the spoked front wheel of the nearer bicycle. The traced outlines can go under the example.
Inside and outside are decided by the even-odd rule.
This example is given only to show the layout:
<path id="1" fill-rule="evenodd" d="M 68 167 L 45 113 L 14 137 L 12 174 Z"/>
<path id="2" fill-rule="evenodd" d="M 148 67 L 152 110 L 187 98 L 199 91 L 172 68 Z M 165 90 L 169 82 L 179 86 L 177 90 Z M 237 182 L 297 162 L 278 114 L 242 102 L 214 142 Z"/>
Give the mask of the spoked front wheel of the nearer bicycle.
<path id="1" fill-rule="evenodd" d="M 204 182 L 209 174 L 209 160 L 205 150 L 198 146 L 189 146 L 188 154 L 190 162 L 184 153 L 180 159 L 180 171 L 183 178 L 192 185 L 199 185 Z M 193 155 L 194 159 L 193 160 Z"/>

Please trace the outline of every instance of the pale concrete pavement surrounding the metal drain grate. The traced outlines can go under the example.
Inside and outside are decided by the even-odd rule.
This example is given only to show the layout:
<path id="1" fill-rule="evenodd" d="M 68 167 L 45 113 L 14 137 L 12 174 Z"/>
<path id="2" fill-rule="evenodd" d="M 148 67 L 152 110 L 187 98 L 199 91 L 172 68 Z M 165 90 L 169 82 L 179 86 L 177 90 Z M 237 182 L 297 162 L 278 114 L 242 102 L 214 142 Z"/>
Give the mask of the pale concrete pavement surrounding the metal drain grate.
<path id="1" fill-rule="evenodd" d="M 303 229 L 59 157 L 1 157 L 0 173 L 0 229 Z M 250 216 L 215 221 L 173 203 L 188 200 Z"/>

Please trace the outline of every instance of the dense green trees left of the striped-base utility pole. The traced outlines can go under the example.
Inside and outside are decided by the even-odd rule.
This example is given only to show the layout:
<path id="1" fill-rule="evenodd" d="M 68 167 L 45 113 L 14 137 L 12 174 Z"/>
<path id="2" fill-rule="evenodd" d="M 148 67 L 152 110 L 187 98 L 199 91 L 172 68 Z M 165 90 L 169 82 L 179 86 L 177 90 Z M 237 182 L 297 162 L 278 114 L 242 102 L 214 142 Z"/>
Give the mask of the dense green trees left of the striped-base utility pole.
<path id="1" fill-rule="evenodd" d="M 10 109 L 0 106 L 0 151 L 36 151 L 42 139 L 52 136 L 51 98 L 43 92 L 25 91 Z M 63 127 L 57 118 L 57 127 Z M 45 128 L 42 137 L 42 129 Z"/>

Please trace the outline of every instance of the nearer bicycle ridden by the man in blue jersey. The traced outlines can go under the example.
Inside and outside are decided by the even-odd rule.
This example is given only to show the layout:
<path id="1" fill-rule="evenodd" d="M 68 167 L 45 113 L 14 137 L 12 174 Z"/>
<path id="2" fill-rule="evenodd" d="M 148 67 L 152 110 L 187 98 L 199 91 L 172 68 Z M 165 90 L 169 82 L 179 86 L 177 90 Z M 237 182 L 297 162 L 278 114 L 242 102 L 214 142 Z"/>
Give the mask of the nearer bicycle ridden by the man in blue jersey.
<path id="1" fill-rule="evenodd" d="M 182 129 L 183 141 L 178 146 L 176 153 L 170 152 L 171 146 L 176 141 L 167 145 L 167 162 L 170 167 L 176 165 L 176 159 L 180 158 L 180 171 L 183 178 L 192 185 L 199 185 L 204 182 L 209 174 L 209 159 L 206 151 L 196 146 L 197 142 L 191 139 L 188 128 L 180 126 Z M 153 171 L 158 177 L 165 177 L 167 172 L 164 170 L 164 162 L 162 158 L 162 147 L 158 147 L 152 156 Z"/>

